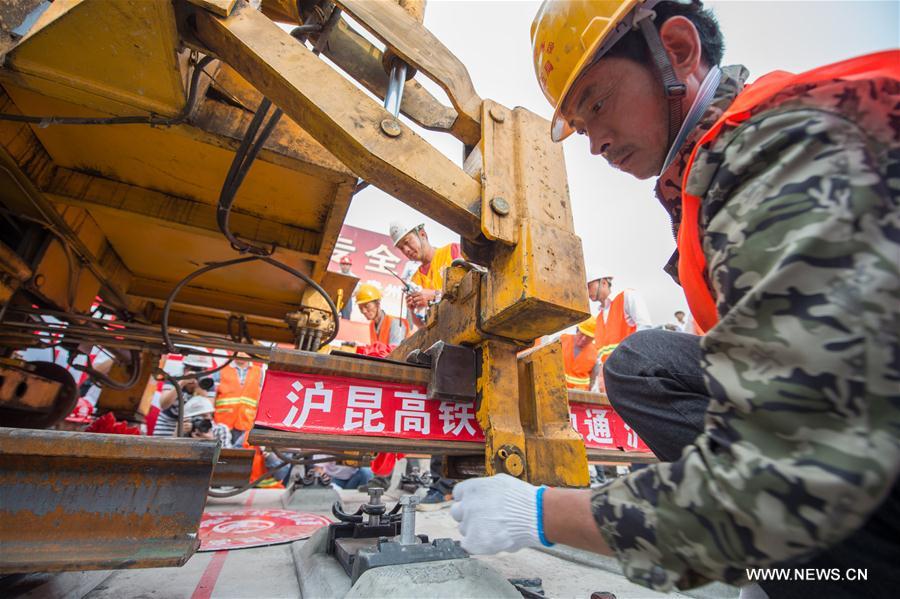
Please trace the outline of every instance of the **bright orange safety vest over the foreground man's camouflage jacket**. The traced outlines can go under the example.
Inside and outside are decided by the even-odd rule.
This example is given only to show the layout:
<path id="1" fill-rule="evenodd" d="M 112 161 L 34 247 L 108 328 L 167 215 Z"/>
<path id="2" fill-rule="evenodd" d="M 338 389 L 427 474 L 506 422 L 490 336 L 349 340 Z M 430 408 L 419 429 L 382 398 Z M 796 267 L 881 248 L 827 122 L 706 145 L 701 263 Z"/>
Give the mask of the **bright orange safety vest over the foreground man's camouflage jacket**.
<path id="1" fill-rule="evenodd" d="M 829 81 L 834 79 L 875 79 L 887 77 L 900 79 L 900 50 L 888 50 L 851 58 L 842 62 L 812 69 L 799 75 L 785 71 L 774 71 L 763 75 L 753 84 L 744 88 L 731 106 L 707 131 L 688 159 L 681 182 L 681 228 L 678 231 L 678 278 L 687 297 L 694 322 L 703 331 L 708 331 L 719 321 L 716 301 L 706 283 L 706 256 L 700 240 L 698 225 L 701 198 L 687 193 L 688 177 L 697 152 L 708 146 L 722 132 L 725 125 L 736 127 L 752 116 L 753 109 L 780 91 L 795 85 Z"/>

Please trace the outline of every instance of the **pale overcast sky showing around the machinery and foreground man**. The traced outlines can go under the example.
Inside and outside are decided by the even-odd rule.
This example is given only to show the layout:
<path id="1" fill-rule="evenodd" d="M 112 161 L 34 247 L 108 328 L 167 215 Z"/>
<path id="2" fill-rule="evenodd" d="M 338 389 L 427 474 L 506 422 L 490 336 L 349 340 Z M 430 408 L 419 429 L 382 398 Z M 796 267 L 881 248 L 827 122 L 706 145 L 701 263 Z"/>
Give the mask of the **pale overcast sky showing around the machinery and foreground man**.
<path id="1" fill-rule="evenodd" d="M 539 2 L 429 0 L 425 26 L 460 58 L 475 90 L 505 106 L 524 106 L 549 118 L 531 61 L 531 21 Z M 708 1 L 725 37 L 723 65 L 743 64 L 750 81 L 772 70 L 802 72 L 877 50 L 900 46 L 900 0 Z M 417 75 L 436 97 L 446 95 Z M 459 163 L 461 144 L 450 135 L 405 123 Z M 588 272 L 615 276 L 615 290 L 636 289 L 654 324 L 672 322 L 686 309 L 681 289 L 662 271 L 675 249 L 668 215 L 653 195 L 653 180 L 638 181 L 591 156 L 586 138 L 563 142 L 575 232 Z M 448 229 L 379 189 L 353 199 L 346 223 L 387 232 L 391 221 L 426 223 L 436 245 L 457 241 Z M 564 263 L 560 268 L 565 268 Z"/>

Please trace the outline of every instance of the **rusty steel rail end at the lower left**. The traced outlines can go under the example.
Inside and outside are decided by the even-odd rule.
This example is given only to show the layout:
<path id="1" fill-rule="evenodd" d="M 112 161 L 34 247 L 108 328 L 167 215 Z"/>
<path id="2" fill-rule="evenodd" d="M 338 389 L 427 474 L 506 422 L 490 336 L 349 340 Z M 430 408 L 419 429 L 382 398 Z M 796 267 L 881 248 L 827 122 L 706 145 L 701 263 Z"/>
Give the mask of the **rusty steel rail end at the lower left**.
<path id="1" fill-rule="evenodd" d="M 214 442 L 0 428 L 0 574 L 180 566 Z"/>

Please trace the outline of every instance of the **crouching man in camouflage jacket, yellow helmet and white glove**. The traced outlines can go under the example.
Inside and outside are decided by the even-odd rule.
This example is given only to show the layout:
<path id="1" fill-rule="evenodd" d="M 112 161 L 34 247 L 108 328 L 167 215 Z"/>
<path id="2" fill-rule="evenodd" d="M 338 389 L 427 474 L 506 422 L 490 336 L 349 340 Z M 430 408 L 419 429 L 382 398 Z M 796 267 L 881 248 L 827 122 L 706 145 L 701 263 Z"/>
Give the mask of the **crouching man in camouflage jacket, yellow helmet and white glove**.
<path id="1" fill-rule="evenodd" d="M 605 364 L 661 463 L 594 491 L 461 483 L 463 547 L 565 543 L 661 591 L 789 567 L 834 575 L 772 599 L 896 596 L 900 52 L 745 88 L 699 2 L 545 2 L 532 42 L 554 139 L 659 175 L 706 335 L 638 331 Z"/>

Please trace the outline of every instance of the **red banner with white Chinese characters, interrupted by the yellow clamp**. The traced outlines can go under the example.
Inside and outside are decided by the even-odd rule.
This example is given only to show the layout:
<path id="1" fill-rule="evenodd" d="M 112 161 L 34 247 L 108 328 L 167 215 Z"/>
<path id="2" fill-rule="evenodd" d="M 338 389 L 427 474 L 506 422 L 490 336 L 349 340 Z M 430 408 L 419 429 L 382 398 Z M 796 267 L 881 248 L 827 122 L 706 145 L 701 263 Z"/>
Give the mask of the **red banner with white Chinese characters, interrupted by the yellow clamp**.
<path id="1" fill-rule="evenodd" d="M 573 403 L 572 427 L 590 448 L 649 452 L 608 406 Z M 484 441 L 472 403 L 426 399 L 425 387 L 269 370 L 257 426 L 289 432 Z"/>

